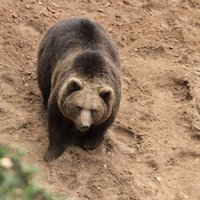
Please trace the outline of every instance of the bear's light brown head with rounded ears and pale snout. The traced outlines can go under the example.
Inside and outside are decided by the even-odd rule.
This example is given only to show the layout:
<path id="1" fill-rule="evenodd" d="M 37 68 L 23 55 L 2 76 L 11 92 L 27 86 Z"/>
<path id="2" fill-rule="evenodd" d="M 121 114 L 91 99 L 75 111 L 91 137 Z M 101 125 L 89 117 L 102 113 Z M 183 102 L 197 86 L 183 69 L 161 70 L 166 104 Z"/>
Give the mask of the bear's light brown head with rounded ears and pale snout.
<path id="1" fill-rule="evenodd" d="M 61 113 L 72 120 L 80 132 L 92 125 L 101 124 L 112 112 L 115 95 L 110 86 L 97 89 L 83 85 L 78 78 L 70 78 L 59 92 L 58 105 Z"/>

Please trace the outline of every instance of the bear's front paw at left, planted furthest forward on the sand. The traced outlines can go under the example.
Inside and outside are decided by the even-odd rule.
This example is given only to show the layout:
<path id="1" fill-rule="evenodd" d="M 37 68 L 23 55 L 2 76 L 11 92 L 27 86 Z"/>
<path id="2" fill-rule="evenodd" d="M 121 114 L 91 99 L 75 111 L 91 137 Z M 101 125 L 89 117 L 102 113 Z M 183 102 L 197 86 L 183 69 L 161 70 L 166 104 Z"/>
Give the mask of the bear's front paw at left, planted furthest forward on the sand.
<path id="1" fill-rule="evenodd" d="M 54 148 L 48 148 L 47 152 L 44 155 L 44 161 L 49 163 L 60 157 L 65 151 L 65 147 L 63 145 L 57 146 Z"/>

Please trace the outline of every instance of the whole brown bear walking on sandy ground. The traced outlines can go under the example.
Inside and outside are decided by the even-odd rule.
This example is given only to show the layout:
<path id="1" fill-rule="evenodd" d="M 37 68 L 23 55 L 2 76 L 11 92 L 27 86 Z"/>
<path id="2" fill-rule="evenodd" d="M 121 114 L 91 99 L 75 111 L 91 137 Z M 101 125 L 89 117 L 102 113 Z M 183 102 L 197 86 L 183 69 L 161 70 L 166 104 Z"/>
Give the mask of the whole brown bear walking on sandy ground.
<path id="1" fill-rule="evenodd" d="M 113 123 L 121 99 L 121 67 L 116 46 L 95 21 L 62 20 L 40 42 L 38 84 L 48 114 L 46 162 L 58 158 L 78 138 L 96 148 Z"/>

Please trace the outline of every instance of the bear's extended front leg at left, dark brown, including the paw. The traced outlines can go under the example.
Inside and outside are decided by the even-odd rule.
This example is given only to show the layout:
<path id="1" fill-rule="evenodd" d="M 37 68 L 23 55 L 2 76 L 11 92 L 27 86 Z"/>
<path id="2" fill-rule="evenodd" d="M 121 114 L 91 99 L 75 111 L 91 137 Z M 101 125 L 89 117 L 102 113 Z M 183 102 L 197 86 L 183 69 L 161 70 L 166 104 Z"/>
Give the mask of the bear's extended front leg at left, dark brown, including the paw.
<path id="1" fill-rule="evenodd" d="M 49 104 L 48 108 L 48 132 L 49 147 L 44 155 L 44 161 L 52 162 L 63 154 L 64 146 L 64 124 L 63 116 L 55 104 Z"/>

